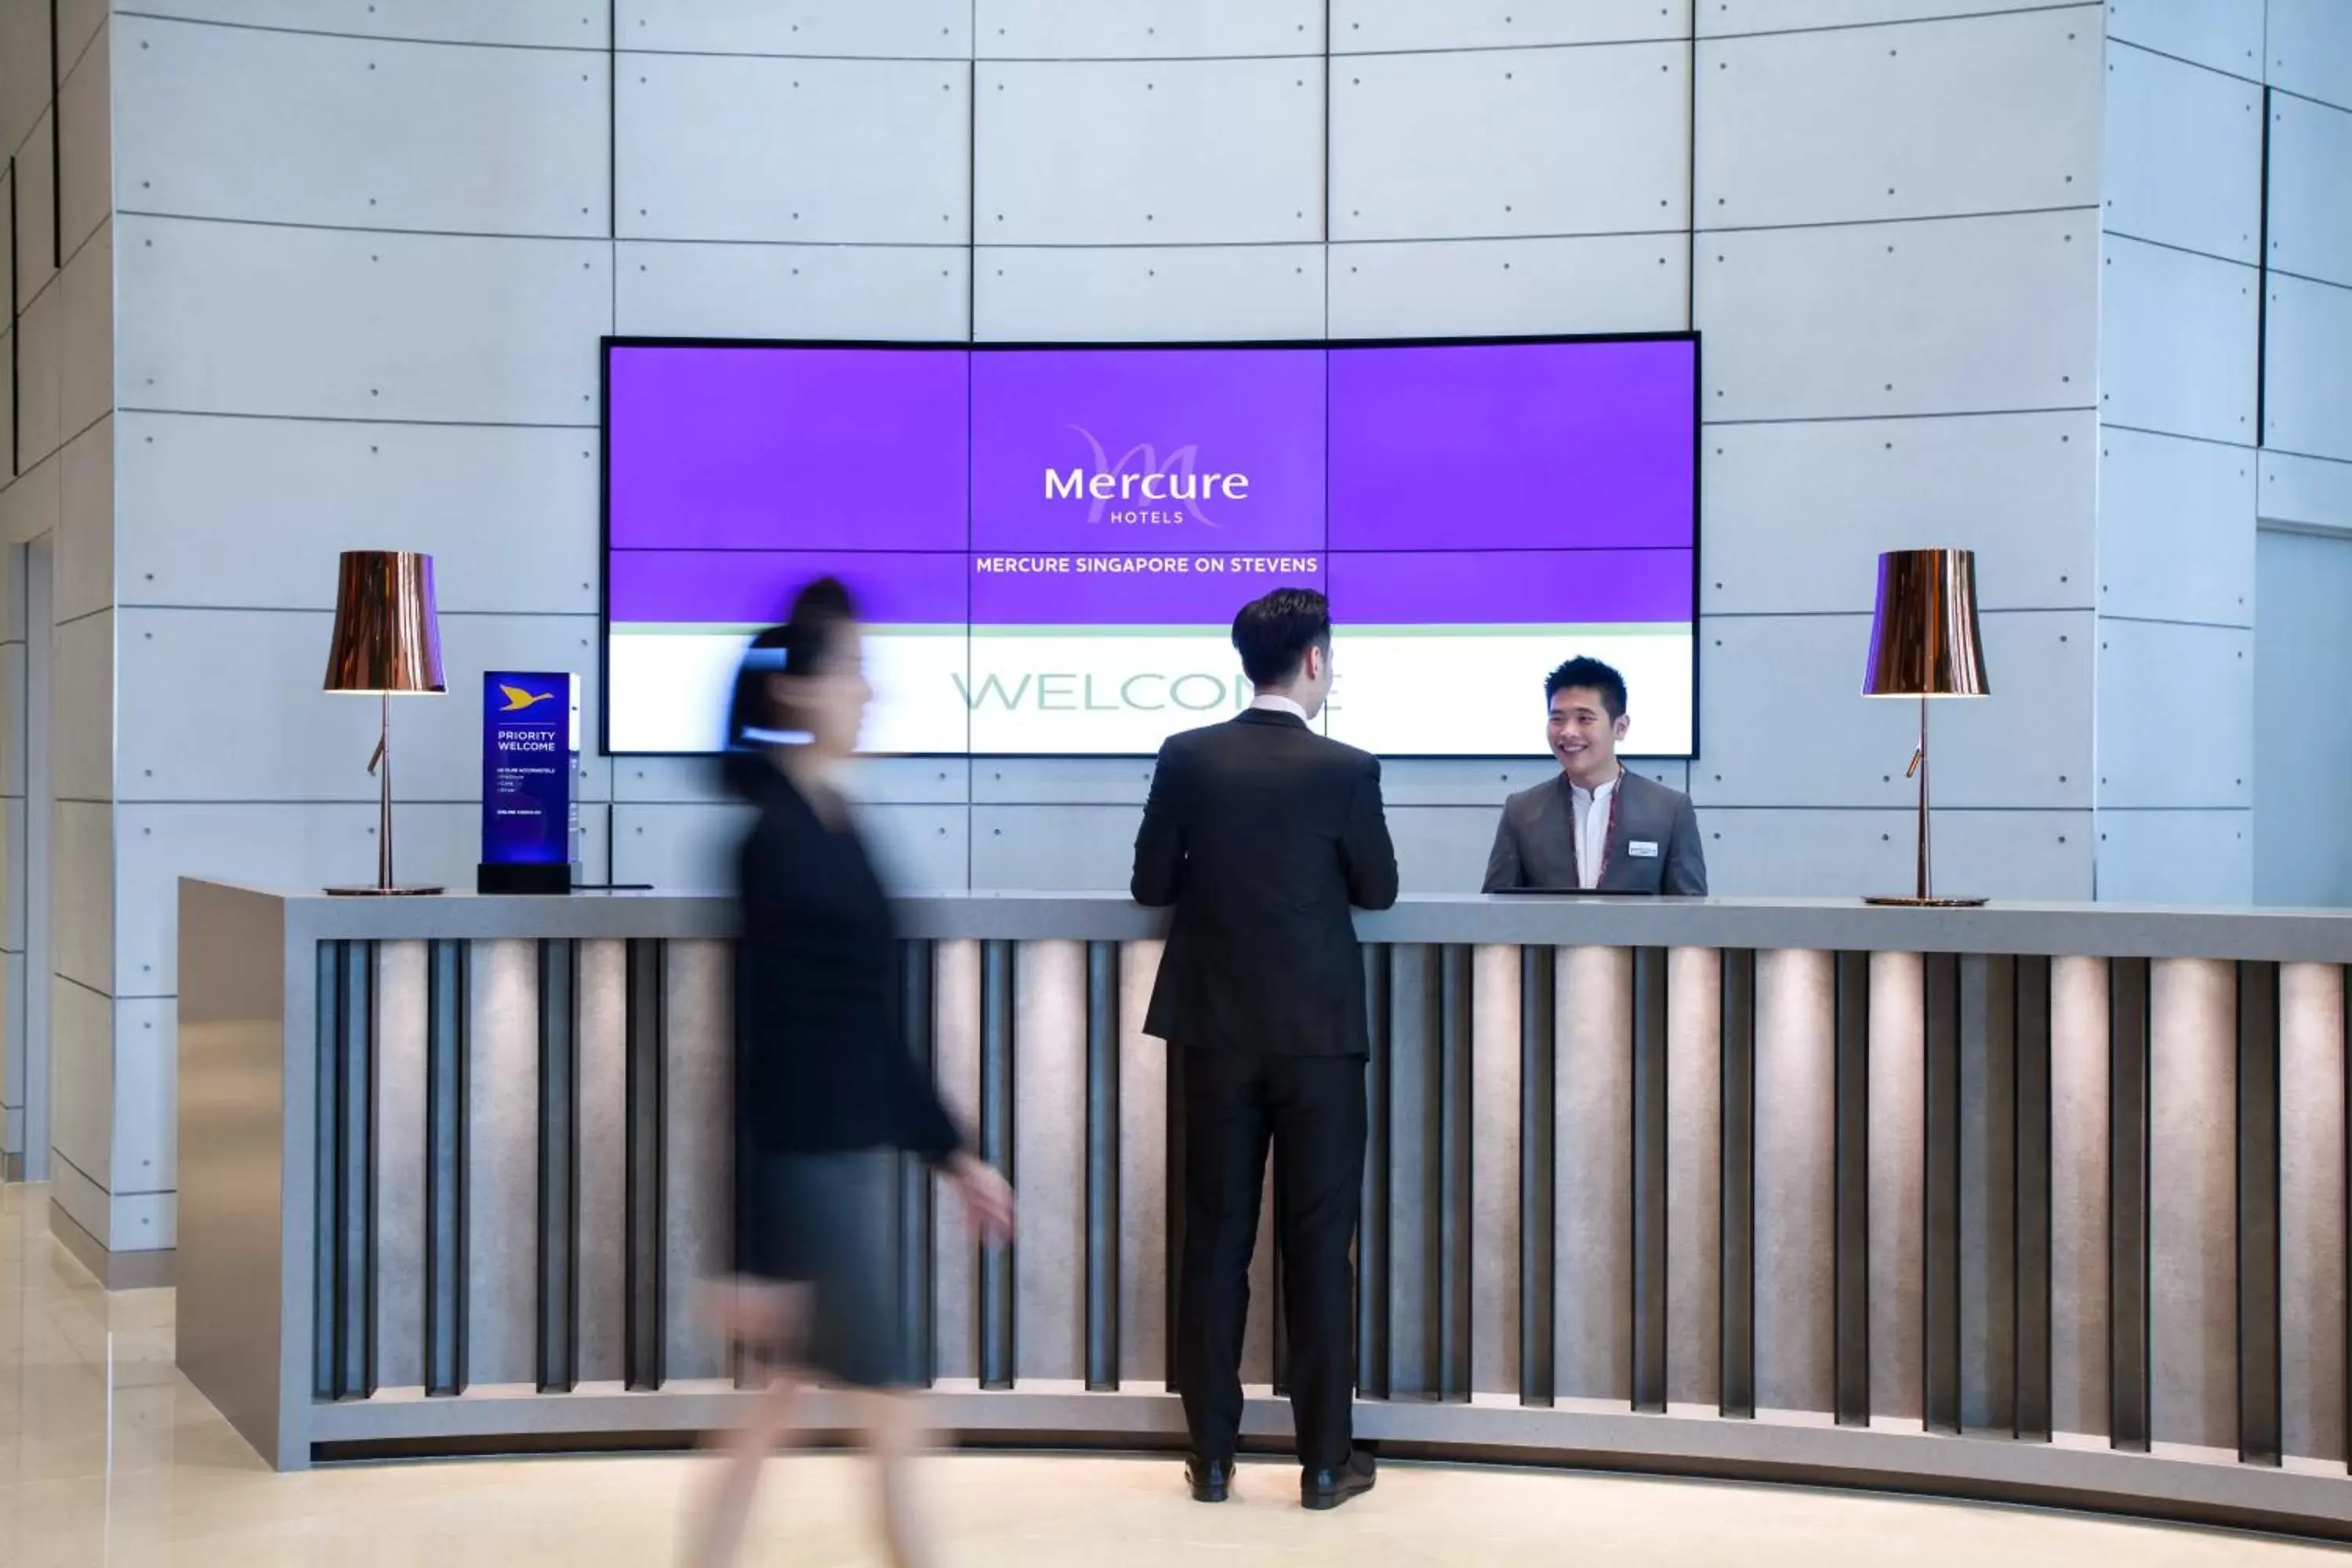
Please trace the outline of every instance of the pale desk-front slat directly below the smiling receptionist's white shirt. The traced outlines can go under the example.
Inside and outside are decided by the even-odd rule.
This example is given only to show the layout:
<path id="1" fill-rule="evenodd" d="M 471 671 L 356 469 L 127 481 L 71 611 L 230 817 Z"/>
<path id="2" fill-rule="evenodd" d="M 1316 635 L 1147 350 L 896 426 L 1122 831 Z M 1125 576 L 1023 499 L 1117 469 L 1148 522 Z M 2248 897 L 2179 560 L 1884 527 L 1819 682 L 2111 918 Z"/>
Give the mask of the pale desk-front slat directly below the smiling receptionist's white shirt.
<path id="1" fill-rule="evenodd" d="M 1552 1382 L 1632 1403 L 1632 954 L 1564 947 L 1557 1004 Z"/>

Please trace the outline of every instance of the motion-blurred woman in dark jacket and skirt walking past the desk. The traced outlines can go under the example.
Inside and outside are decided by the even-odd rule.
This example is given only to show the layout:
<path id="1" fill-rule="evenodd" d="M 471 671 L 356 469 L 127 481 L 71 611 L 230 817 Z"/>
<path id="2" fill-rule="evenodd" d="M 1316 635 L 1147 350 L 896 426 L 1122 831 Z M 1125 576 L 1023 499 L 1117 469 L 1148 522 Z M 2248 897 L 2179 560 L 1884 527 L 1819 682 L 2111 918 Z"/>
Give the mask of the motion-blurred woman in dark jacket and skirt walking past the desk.
<path id="1" fill-rule="evenodd" d="M 901 1032 L 889 898 L 837 788 L 870 696 L 856 609 L 833 578 L 800 592 L 736 677 L 729 780 L 760 818 L 741 851 L 739 1258 L 717 1316 L 774 1382 L 727 1441 L 694 1568 L 734 1559 L 807 1382 L 854 1392 L 891 1561 L 929 1561 L 908 1497 L 922 1429 L 889 1253 L 898 1150 L 955 1182 L 983 1237 L 1011 1232 L 1011 1190 L 974 1159 Z"/>

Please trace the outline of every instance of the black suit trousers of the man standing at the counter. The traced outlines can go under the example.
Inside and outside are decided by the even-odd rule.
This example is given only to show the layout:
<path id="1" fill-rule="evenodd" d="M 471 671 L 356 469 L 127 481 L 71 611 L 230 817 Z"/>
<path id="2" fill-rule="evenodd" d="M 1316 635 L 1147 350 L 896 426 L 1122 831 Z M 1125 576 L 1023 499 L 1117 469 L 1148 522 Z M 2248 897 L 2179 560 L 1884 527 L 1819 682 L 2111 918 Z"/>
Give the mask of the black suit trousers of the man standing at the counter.
<path id="1" fill-rule="evenodd" d="M 1230 1460 L 1242 1432 L 1242 1326 L 1265 1150 L 1289 1335 L 1298 1462 L 1348 1462 L 1355 1403 L 1355 1241 L 1364 1206 L 1364 1058 L 1183 1053 L 1183 1260 L 1176 1380 L 1192 1453 Z"/>

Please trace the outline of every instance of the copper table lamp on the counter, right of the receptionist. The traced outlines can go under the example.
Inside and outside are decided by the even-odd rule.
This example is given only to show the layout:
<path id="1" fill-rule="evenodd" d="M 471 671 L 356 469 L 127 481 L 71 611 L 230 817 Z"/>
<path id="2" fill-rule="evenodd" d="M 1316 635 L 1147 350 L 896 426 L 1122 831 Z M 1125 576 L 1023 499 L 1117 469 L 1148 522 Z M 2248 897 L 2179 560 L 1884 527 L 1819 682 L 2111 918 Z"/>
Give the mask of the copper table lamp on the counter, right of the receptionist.
<path id="1" fill-rule="evenodd" d="M 1983 898 L 1936 898 L 1926 839 L 1926 708 L 1940 696 L 1987 696 L 1985 642 L 1976 632 L 1976 550 L 1879 555 L 1879 607 L 1870 621 L 1863 696 L 1919 698 L 1919 748 L 1903 773 L 1919 780 L 1919 891 L 1863 903 L 1966 907 Z"/>

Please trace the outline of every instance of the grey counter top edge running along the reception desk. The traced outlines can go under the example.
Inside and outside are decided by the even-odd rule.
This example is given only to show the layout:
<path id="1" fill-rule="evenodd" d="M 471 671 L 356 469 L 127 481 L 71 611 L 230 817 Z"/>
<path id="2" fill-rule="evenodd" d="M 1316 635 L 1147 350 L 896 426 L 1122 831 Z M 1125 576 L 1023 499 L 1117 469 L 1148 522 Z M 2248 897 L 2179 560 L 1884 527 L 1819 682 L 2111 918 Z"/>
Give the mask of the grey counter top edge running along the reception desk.
<path id="1" fill-rule="evenodd" d="M 724 938 L 724 893 L 572 893 L 515 898 L 334 898 L 318 889 L 233 891 L 282 905 L 287 940 L 612 940 Z M 910 893 L 910 938 L 1148 940 L 1167 912 L 1122 893 Z M 1367 943 L 1543 947 L 1806 947 L 2051 957 L 2199 957 L 2352 964 L 2352 910 L 2223 910 L 2103 903 L 1992 903 L 1973 910 L 1877 907 L 1846 898 L 1543 898 L 1435 893 L 1364 912 Z"/>

